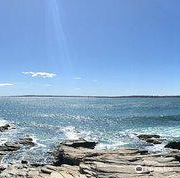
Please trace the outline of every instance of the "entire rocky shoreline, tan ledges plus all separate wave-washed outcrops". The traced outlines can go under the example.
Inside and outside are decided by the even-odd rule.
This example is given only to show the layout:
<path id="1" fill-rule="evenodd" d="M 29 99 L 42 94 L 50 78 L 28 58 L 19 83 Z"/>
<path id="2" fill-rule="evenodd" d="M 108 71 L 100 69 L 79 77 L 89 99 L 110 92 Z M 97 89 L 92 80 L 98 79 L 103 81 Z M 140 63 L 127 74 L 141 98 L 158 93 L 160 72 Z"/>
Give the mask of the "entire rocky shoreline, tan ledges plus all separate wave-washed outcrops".
<path id="1" fill-rule="evenodd" d="M 6 132 L 10 125 L 0 127 Z M 139 135 L 142 141 L 161 144 L 159 135 Z M 150 154 L 147 150 L 119 148 L 118 150 L 97 150 L 94 141 L 66 140 L 51 151 L 54 163 L 51 165 L 21 163 L 0 166 L 0 178 L 179 178 L 180 142 L 170 142 L 170 153 Z M 34 146 L 31 137 L 17 142 L 6 142 L 0 146 L 0 158 L 21 147 Z"/>

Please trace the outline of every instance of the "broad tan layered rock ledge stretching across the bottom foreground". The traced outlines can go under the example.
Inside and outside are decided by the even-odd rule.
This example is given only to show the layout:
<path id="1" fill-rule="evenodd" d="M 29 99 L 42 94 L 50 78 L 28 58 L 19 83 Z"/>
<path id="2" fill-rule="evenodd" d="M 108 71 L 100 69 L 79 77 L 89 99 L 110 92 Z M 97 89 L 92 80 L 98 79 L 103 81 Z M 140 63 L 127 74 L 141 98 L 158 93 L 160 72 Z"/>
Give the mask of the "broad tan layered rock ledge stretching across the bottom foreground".
<path id="1" fill-rule="evenodd" d="M 162 155 L 138 149 L 95 150 L 60 144 L 56 153 L 60 165 L 9 165 L 0 172 L 0 178 L 179 178 L 180 175 L 179 150 Z"/>

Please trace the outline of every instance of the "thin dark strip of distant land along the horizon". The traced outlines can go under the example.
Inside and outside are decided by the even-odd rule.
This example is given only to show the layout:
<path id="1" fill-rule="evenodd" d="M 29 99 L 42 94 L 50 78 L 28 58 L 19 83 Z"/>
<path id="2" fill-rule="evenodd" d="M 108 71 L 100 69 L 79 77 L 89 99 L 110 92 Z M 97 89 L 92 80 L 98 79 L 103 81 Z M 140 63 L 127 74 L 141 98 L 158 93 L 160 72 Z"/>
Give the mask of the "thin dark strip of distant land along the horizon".
<path id="1" fill-rule="evenodd" d="M 81 96 L 81 95 L 12 95 L 12 96 L 0 96 L 0 97 L 14 97 L 14 98 L 180 98 L 180 95 L 129 95 L 129 96 Z"/>

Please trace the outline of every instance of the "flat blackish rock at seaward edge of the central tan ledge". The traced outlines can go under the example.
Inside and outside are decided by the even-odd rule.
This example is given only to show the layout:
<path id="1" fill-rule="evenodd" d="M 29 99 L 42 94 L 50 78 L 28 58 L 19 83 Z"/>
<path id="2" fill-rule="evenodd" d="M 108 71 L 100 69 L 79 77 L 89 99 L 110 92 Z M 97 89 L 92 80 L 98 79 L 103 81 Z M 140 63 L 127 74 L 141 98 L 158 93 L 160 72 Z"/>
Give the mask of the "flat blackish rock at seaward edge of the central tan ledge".
<path id="1" fill-rule="evenodd" d="M 95 146 L 97 145 L 97 142 L 94 141 L 87 141 L 84 139 L 81 140 L 66 140 L 61 143 L 61 145 L 73 147 L 73 148 L 89 148 L 89 149 L 94 149 Z"/>

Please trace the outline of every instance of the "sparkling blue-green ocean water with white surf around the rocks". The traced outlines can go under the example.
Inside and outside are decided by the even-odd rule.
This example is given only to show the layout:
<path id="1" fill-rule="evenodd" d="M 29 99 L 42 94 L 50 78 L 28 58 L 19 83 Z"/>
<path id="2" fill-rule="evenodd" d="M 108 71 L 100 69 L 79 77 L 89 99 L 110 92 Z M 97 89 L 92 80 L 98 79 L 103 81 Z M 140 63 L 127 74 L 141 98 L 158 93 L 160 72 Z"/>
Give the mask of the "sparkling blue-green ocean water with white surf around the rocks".
<path id="1" fill-rule="evenodd" d="M 15 129 L 2 133 L 0 144 L 31 136 L 36 146 L 7 155 L 3 162 L 22 159 L 51 162 L 47 152 L 65 139 L 86 138 L 99 142 L 97 149 L 119 147 L 163 151 L 164 144 L 151 146 L 137 134 L 159 134 L 180 139 L 180 98 L 38 98 L 1 97 L 0 125 Z"/>

